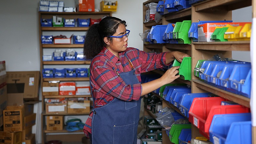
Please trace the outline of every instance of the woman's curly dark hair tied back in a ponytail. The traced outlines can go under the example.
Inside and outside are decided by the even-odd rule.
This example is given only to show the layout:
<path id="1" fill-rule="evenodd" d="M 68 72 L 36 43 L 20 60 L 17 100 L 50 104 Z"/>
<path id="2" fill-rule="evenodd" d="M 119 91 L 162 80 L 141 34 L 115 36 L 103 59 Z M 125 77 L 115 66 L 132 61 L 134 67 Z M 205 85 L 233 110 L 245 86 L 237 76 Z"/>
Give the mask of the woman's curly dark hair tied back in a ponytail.
<path id="1" fill-rule="evenodd" d="M 84 40 L 84 57 L 92 60 L 104 46 L 107 44 L 104 42 L 104 37 L 112 36 L 116 33 L 116 29 L 120 24 L 126 26 L 124 20 L 120 20 L 116 17 L 105 17 L 100 23 L 93 24 L 87 31 Z M 108 37 L 112 41 L 111 37 Z"/>

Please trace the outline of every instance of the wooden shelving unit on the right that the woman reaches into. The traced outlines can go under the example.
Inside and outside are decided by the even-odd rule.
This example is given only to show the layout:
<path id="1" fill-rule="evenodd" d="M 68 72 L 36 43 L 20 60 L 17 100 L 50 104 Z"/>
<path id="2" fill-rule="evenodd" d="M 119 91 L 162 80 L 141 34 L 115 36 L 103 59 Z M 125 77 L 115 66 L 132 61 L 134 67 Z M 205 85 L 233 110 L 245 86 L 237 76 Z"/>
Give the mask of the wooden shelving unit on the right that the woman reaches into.
<path id="1" fill-rule="evenodd" d="M 146 4 L 151 3 L 151 0 L 143 3 L 143 19 L 146 15 Z M 155 3 L 158 3 L 155 2 Z M 205 0 L 196 4 L 193 4 L 190 8 L 181 10 L 179 12 L 172 12 L 164 14 L 162 19 L 156 23 L 154 21 L 144 22 L 143 31 L 150 30 L 155 25 L 167 25 L 169 23 L 176 23 L 183 20 L 191 20 L 192 22 L 208 21 L 208 20 L 232 20 L 232 10 L 244 8 L 247 6 L 253 6 L 253 17 L 256 18 L 255 12 L 255 0 Z M 198 60 L 207 60 L 212 58 L 217 53 L 223 54 L 223 56 L 232 58 L 232 51 L 248 51 L 250 52 L 250 41 L 234 41 L 234 42 L 192 42 L 191 44 L 144 44 L 144 51 L 151 52 L 156 50 L 159 52 L 171 52 L 180 51 L 191 55 L 192 67 L 191 67 L 191 81 L 186 81 L 178 78 L 176 81 L 185 83 L 191 86 L 192 93 L 211 92 L 227 100 L 234 101 L 240 105 L 251 108 L 250 99 L 241 95 L 237 95 L 231 92 L 227 92 L 218 89 L 212 85 L 206 84 L 194 76 L 194 68 Z M 154 70 L 153 72 L 158 74 L 164 74 L 163 71 Z M 158 95 L 158 94 L 154 94 Z M 159 97 L 160 98 L 160 97 Z M 168 101 L 166 102 L 160 98 L 164 107 L 176 108 Z M 177 111 L 179 111 L 177 109 Z M 149 113 L 150 115 L 150 113 Z M 199 130 L 192 124 L 192 138 L 202 136 Z M 252 127 L 253 142 L 256 143 L 256 128 Z M 167 134 L 163 132 L 163 144 L 171 144 L 167 138 Z"/>

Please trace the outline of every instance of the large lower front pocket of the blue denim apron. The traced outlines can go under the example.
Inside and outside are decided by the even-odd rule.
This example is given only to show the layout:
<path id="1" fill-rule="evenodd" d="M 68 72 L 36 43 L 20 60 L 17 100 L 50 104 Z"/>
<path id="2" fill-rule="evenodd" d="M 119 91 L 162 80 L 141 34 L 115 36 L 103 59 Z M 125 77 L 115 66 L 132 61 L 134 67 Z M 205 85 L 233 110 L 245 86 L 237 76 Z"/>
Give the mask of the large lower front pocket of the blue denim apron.
<path id="1" fill-rule="evenodd" d="M 137 130 L 136 130 L 137 131 Z M 114 144 L 131 144 L 133 143 L 134 123 L 122 126 L 114 126 Z"/>

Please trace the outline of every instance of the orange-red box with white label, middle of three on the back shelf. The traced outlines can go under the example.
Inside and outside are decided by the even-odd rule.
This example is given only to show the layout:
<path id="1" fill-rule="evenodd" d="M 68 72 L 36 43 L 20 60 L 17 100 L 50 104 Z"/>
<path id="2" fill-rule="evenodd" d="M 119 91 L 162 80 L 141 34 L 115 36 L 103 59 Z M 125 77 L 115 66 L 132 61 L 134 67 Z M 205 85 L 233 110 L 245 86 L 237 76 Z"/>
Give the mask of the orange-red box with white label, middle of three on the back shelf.
<path id="1" fill-rule="evenodd" d="M 76 95 L 76 83 L 75 82 L 61 82 L 59 84 L 60 95 Z"/>

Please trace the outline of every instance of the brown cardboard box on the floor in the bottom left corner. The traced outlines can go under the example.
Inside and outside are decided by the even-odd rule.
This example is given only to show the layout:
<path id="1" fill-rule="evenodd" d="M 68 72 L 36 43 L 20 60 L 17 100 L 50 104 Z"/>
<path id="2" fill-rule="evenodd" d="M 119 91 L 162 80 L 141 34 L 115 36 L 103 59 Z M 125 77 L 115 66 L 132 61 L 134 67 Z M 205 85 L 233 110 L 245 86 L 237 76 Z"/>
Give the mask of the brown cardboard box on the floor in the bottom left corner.
<path id="1" fill-rule="evenodd" d="M 21 144 L 21 132 L 0 132 L 0 144 Z"/>

